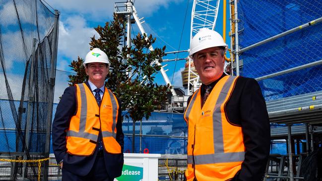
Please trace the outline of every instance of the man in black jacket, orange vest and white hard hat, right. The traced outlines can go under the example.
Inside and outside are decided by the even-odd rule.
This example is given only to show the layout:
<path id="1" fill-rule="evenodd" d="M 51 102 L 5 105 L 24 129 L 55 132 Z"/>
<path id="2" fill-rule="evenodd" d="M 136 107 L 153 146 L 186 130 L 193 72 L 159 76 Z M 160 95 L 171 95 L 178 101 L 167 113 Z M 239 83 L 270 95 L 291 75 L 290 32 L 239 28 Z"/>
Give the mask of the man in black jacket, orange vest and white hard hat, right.
<path id="1" fill-rule="evenodd" d="M 190 47 L 202 85 L 184 114 L 187 181 L 261 181 L 270 127 L 258 82 L 224 73 L 227 45 L 217 32 L 200 29 Z"/>

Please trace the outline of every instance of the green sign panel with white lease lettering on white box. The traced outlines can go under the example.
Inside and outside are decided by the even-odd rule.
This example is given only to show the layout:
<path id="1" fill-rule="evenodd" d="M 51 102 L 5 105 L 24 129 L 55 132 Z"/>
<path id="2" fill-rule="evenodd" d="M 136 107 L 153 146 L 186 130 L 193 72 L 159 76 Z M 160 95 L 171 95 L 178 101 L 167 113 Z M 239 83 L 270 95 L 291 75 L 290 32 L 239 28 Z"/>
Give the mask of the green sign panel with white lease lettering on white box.
<path id="1" fill-rule="evenodd" d="M 143 181 L 143 164 L 124 164 L 122 175 L 116 178 L 114 181 Z"/>

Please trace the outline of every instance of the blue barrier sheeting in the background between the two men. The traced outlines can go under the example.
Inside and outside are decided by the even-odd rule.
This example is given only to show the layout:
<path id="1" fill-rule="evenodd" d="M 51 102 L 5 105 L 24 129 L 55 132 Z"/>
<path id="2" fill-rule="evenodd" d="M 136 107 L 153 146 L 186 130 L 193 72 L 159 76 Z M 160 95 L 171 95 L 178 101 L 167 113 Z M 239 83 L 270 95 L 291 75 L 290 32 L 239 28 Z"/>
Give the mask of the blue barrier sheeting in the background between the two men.
<path id="1" fill-rule="evenodd" d="M 133 121 L 124 119 L 124 151 L 129 153 L 133 153 L 132 125 Z M 186 154 L 187 129 L 183 114 L 153 112 L 148 120 L 142 120 L 141 153 Z M 135 122 L 134 144 L 135 153 L 140 153 L 140 121 Z"/>

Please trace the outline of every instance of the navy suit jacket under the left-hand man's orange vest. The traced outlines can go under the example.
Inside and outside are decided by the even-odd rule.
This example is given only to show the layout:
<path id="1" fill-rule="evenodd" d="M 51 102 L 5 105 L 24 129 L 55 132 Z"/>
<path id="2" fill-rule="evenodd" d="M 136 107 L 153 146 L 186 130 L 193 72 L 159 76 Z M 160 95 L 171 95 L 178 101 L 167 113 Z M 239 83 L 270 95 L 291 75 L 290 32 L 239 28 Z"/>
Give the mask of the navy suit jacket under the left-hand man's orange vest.
<path id="1" fill-rule="evenodd" d="M 86 82 L 89 87 L 89 84 Z M 106 92 L 104 92 L 106 94 Z M 104 160 L 107 173 L 110 178 L 119 177 L 122 173 L 124 158 L 123 158 L 123 148 L 124 148 L 124 134 L 122 130 L 122 111 L 121 102 L 119 102 L 119 116 L 116 124 L 117 134 L 116 140 L 121 145 L 121 154 L 110 154 L 104 151 Z M 69 172 L 85 176 L 87 175 L 93 164 L 98 152 L 98 146 L 96 146 L 95 151 L 90 156 L 75 156 L 66 153 L 66 130 L 69 127 L 69 122 L 72 116 L 76 114 L 77 110 L 77 100 L 76 100 L 76 87 L 67 87 L 64 91 L 63 97 L 57 106 L 55 119 L 53 121 L 52 128 L 52 139 L 53 139 L 53 150 L 56 157 L 57 163 L 63 160 L 63 167 Z"/>

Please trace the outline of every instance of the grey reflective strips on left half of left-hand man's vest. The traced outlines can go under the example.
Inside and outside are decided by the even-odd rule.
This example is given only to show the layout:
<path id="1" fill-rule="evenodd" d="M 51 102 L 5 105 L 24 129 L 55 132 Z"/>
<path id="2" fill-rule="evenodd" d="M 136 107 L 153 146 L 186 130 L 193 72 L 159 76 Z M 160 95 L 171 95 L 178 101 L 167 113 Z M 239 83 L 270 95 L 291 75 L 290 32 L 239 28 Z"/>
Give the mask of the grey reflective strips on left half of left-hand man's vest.
<path id="1" fill-rule="evenodd" d="M 75 132 L 72 130 L 67 131 L 67 136 L 73 136 L 73 137 L 80 137 L 80 138 L 86 138 L 93 141 L 96 141 L 98 138 L 98 135 L 90 134 L 88 132 L 85 132 L 85 126 L 86 126 L 86 120 L 87 120 L 87 98 L 86 98 L 86 92 L 84 84 L 77 84 L 79 87 L 80 92 L 80 99 L 81 99 L 81 105 L 80 105 L 80 119 L 79 119 L 79 132 Z"/>

